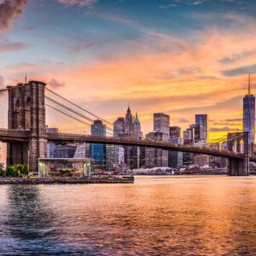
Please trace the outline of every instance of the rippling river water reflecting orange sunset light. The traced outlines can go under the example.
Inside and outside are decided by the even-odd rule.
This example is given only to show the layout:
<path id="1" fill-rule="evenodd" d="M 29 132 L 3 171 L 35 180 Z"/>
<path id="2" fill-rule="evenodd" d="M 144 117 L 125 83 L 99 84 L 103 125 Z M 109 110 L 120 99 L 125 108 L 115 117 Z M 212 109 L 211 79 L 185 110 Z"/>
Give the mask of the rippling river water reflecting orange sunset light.
<path id="1" fill-rule="evenodd" d="M 0 255 L 256 255 L 256 177 L 0 186 Z"/>

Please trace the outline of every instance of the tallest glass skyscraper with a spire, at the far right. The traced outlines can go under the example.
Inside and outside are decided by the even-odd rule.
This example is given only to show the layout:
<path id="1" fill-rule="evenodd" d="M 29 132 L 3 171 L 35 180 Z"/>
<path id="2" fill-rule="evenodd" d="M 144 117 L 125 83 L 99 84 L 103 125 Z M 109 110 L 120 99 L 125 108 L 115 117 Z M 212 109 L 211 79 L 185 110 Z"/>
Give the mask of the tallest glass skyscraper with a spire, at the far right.
<path id="1" fill-rule="evenodd" d="M 248 76 L 248 94 L 243 97 L 243 131 L 248 131 L 248 143 L 254 143 L 255 97 L 251 95 L 251 79 Z"/>

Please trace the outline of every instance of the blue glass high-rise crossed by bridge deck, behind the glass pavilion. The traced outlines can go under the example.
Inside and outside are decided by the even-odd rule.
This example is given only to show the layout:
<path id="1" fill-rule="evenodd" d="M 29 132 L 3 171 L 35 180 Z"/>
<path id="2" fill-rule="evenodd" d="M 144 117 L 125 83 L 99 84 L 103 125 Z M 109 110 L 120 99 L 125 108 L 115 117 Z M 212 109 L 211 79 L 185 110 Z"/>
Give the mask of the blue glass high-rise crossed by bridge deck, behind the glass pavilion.
<path id="1" fill-rule="evenodd" d="M 90 126 L 90 133 L 95 136 L 106 136 L 106 125 L 103 125 L 102 120 L 95 120 L 93 125 Z M 105 169 L 106 145 L 90 144 L 90 157 L 95 169 Z"/>

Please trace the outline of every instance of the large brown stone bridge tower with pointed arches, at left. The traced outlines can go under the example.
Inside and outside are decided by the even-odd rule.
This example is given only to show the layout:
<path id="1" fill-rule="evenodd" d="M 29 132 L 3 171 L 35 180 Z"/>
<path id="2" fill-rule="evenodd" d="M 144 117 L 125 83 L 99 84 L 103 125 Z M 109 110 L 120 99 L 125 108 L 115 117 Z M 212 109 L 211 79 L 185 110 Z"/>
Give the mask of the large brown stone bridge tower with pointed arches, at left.
<path id="1" fill-rule="evenodd" d="M 30 131 L 28 142 L 7 144 L 7 165 L 28 164 L 30 172 L 38 172 L 38 158 L 46 157 L 45 84 L 29 81 L 8 86 L 8 128 Z"/>

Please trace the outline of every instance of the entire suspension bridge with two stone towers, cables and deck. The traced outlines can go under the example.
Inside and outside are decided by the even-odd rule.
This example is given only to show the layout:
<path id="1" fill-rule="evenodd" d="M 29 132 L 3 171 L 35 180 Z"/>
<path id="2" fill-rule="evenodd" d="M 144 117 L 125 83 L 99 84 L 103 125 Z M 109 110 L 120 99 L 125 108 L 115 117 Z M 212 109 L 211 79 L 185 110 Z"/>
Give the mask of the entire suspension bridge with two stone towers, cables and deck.
<path id="1" fill-rule="evenodd" d="M 7 165 L 28 164 L 30 171 L 35 173 L 38 172 L 38 158 L 46 157 L 50 142 L 127 145 L 224 157 L 228 159 L 230 176 L 248 175 L 249 162 L 256 162 L 256 157 L 250 155 L 247 132 L 229 133 L 228 150 L 113 137 L 110 122 L 49 90 L 40 81 L 7 86 L 0 91 L 0 104 L 0 141 L 7 143 Z M 93 119 L 101 119 L 107 125 L 107 137 L 84 134 L 84 127 L 93 123 Z M 68 130 L 66 127 L 66 131 L 64 128 L 61 132 L 47 132 L 47 125 L 54 124 L 58 128 L 63 123 L 65 126 L 73 124 L 78 129 L 73 131 L 74 128 Z"/>

